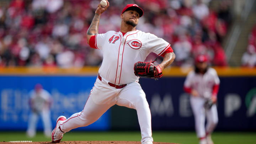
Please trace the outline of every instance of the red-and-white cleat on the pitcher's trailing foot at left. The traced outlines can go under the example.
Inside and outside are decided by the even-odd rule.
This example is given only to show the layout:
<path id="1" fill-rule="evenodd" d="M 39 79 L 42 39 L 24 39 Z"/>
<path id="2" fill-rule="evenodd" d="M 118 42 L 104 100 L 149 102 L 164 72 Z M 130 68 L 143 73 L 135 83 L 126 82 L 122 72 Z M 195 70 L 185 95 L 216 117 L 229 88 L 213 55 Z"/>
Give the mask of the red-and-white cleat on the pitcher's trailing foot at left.
<path id="1" fill-rule="evenodd" d="M 53 143 L 59 143 L 60 140 L 62 139 L 63 134 L 64 134 L 65 132 L 62 132 L 62 131 L 60 130 L 60 122 L 65 121 L 65 120 L 66 120 L 66 117 L 65 117 L 65 116 L 59 116 L 59 117 L 57 118 L 56 127 L 55 127 L 55 128 L 53 129 L 53 131 L 52 131 L 52 142 L 53 142 Z"/>

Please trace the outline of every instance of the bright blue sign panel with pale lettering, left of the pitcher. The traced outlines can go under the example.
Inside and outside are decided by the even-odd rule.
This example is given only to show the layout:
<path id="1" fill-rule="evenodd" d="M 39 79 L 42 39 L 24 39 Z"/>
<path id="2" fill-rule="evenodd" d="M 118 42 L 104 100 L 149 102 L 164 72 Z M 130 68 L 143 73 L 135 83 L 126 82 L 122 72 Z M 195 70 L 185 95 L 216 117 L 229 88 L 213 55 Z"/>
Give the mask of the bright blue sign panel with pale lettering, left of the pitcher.
<path id="1" fill-rule="evenodd" d="M 82 111 L 94 86 L 96 76 L 0 76 L 0 130 L 26 130 L 31 112 L 29 93 L 41 84 L 52 96 L 51 121 L 64 115 Z M 110 129 L 110 112 L 107 111 L 95 123 L 80 130 Z M 42 120 L 38 129 L 43 129 Z"/>

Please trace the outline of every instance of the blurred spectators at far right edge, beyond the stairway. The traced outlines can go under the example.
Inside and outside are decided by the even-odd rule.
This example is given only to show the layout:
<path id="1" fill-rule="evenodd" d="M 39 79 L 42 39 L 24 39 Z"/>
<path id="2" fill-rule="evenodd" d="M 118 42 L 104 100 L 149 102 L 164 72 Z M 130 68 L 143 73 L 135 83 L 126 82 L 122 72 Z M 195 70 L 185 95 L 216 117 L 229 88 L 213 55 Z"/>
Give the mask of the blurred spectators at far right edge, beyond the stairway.
<path id="1" fill-rule="evenodd" d="M 249 34 L 249 42 L 246 52 L 242 55 L 242 66 L 255 67 L 256 66 L 256 24 Z"/>

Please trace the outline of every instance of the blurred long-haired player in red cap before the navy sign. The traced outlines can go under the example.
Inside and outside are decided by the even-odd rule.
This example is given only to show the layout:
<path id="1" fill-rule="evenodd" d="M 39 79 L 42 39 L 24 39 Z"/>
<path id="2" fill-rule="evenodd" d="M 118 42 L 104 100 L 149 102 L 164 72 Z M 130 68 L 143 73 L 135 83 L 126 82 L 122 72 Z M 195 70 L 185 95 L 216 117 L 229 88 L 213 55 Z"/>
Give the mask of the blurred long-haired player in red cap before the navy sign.
<path id="1" fill-rule="evenodd" d="M 195 127 L 200 144 L 213 144 L 211 133 L 218 123 L 217 93 L 219 77 L 213 68 L 208 68 L 207 57 L 199 55 L 195 60 L 195 69 L 185 80 L 184 90 L 191 94 L 190 102 L 195 118 Z M 211 99 L 214 103 L 211 108 L 205 108 L 205 102 Z M 205 128 L 205 118 L 207 125 Z"/>

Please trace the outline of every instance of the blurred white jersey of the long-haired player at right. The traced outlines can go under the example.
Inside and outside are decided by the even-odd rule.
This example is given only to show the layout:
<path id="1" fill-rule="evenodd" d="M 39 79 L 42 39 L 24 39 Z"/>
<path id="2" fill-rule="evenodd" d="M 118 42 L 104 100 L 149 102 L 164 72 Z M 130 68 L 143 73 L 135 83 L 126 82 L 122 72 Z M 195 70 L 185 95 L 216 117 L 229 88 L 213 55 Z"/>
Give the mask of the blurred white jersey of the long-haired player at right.
<path id="1" fill-rule="evenodd" d="M 192 70 L 185 80 L 185 87 L 195 89 L 200 97 L 210 98 L 214 85 L 219 85 L 220 80 L 213 68 L 208 68 L 205 74 L 197 74 Z"/>

